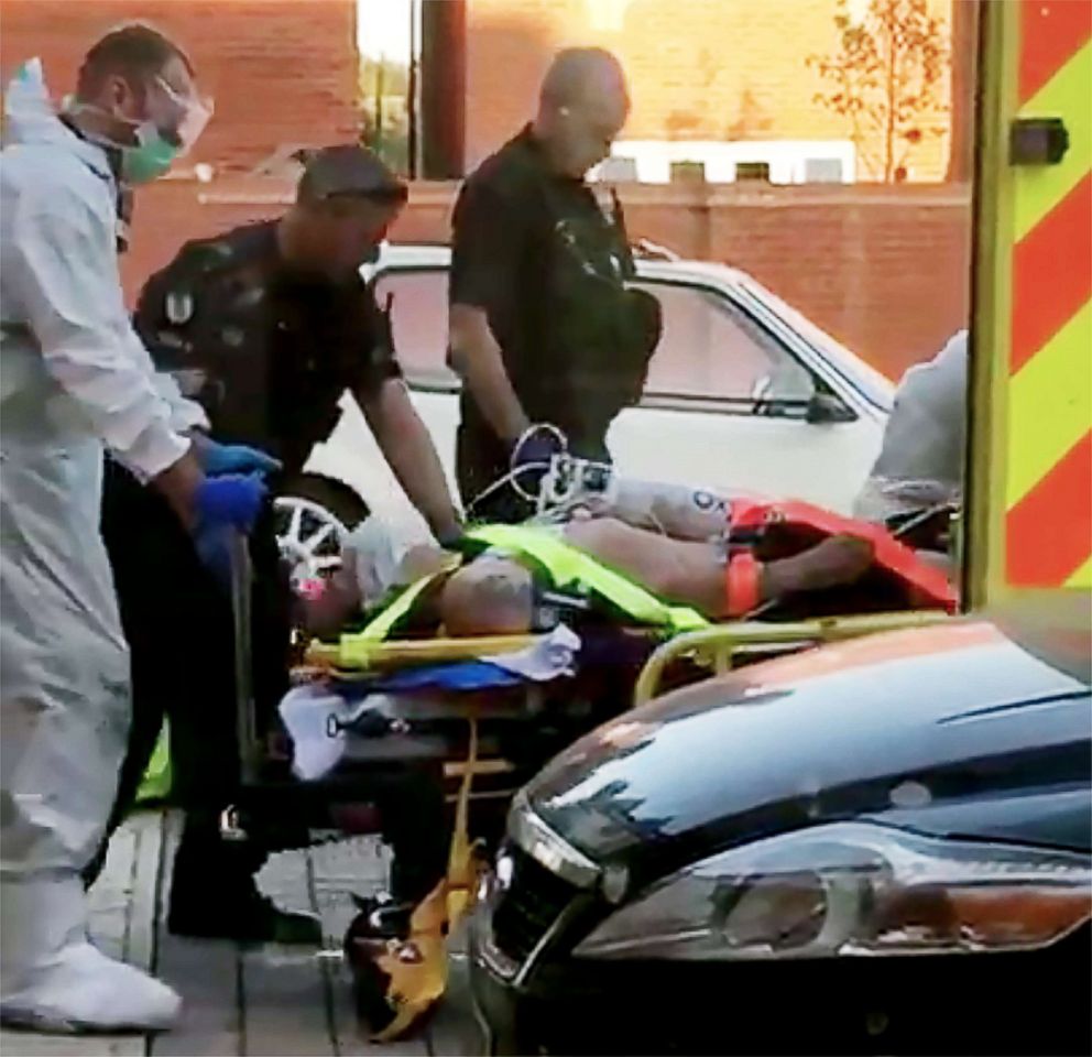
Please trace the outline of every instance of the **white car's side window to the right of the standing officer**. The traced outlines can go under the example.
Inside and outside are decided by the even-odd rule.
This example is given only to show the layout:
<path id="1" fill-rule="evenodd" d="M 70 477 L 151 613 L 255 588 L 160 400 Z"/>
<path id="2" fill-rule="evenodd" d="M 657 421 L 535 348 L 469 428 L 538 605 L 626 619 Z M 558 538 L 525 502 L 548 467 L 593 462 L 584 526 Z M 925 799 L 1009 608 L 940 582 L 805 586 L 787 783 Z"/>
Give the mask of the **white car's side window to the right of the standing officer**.
<path id="1" fill-rule="evenodd" d="M 728 297 L 682 283 L 638 284 L 660 304 L 664 330 L 645 393 L 742 402 L 807 403 L 810 372 Z"/>

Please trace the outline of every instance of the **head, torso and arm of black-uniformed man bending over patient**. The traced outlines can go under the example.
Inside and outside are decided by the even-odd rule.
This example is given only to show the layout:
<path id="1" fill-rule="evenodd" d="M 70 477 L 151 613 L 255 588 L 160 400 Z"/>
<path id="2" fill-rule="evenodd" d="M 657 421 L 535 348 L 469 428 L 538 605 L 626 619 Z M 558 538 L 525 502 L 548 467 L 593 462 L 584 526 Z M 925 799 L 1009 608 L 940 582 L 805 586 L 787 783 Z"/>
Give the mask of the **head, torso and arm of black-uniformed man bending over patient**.
<path id="1" fill-rule="evenodd" d="M 406 197 L 371 151 L 316 151 L 285 216 L 188 242 L 144 286 L 135 324 L 156 366 L 188 380 L 217 438 L 269 451 L 286 482 L 328 438 L 350 390 L 443 542 L 458 534 L 458 514 L 402 381 L 390 320 L 359 272 Z"/>

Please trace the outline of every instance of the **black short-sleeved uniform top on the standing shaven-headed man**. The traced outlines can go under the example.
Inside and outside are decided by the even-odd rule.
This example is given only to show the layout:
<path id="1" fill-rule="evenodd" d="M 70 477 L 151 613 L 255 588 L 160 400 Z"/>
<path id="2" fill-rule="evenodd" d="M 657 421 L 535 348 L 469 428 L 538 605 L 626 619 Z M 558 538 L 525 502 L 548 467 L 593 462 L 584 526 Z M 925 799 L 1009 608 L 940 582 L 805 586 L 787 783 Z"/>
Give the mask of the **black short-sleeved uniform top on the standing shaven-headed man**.
<path id="1" fill-rule="evenodd" d="M 532 421 L 561 426 L 577 447 L 601 439 L 616 407 L 592 406 L 600 386 L 587 368 L 600 357 L 624 372 L 615 316 L 634 274 L 616 201 L 609 215 L 583 181 L 553 172 L 527 127 L 463 184 L 451 254 L 450 301 L 485 312 Z M 467 395 L 462 422 L 479 456 L 501 455 Z"/>

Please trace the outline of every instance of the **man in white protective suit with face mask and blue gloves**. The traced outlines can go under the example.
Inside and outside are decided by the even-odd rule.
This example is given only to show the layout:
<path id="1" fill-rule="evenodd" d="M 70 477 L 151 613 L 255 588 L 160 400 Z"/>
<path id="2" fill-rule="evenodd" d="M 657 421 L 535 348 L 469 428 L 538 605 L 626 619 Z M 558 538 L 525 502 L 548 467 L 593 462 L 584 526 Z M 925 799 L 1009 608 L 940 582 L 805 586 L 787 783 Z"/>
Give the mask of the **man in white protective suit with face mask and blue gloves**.
<path id="1" fill-rule="evenodd" d="M 187 435 L 204 415 L 154 374 L 118 276 L 124 189 L 162 175 L 208 111 L 183 52 L 143 25 L 91 48 L 61 112 L 36 59 L 6 102 L 0 1014 L 51 1031 L 165 1028 L 178 996 L 89 942 L 80 870 L 110 811 L 130 720 L 99 536 L 103 449 L 166 497 L 205 555 L 222 556 L 225 531 L 248 531 L 265 494 L 258 476 L 206 476 Z"/>

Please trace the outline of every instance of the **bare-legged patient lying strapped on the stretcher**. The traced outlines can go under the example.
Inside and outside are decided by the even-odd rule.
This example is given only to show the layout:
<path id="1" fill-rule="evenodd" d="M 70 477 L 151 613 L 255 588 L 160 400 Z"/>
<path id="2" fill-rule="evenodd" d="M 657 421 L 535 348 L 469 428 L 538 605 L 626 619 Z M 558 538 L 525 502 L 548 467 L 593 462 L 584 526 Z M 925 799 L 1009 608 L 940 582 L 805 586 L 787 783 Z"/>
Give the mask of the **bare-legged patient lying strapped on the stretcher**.
<path id="1" fill-rule="evenodd" d="M 340 632 L 384 590 L 424 576 L 436 584 L 423 606 L 448 636 L 548 630 L 567 589 L 618 608 L 609 584 L 589 584 L 597 567 L 711 621 L 767 612 L 775 600 L 783 619 L 956 602 L 937 563 L 880 525 L 806 503 L 642 482 L 574 508 L 560 524 L 471 531 L 455 569 L 438 548 L 417 547 L 396 562 L 379 526 L 368 523 L 346 557 L 327 589 L 303 603 L 302 623 L 319 636 Z M 567 585 L 557 582 L 558 562 Z M 624 618 L 624 601 L 621 608 Z"/>

